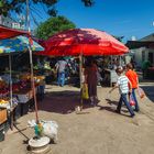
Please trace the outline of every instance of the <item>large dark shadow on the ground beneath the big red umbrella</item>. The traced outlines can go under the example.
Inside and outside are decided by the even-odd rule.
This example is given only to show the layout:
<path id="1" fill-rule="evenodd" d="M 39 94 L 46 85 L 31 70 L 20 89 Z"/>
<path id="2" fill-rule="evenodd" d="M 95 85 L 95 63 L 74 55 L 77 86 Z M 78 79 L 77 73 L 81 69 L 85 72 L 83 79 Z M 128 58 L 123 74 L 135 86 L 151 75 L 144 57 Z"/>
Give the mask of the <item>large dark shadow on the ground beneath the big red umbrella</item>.
<path id="1" fill-rule="evenodd" d="M 68 114 L 75 111 L 77 106 L 80 106 L 79 91 L 52 91 L 45 94 L 43 101 L 38 101 L 38 110 Z M 82 109 L 90 108 L 90 105 L 84 102 Z"/>

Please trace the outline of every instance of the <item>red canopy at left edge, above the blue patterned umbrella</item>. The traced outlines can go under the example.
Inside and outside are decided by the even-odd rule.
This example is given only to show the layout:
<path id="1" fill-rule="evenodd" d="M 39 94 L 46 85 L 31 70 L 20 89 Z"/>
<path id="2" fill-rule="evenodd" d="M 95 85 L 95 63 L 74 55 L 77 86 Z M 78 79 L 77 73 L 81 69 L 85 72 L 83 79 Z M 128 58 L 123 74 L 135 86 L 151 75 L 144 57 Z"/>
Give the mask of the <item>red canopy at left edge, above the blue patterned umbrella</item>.
<path id="1" fill-rule="evenodd" d="M 14 37 L 14 36 L 22 35 L 22 34 L 29 34 L 29 32 L 19 31 L 19 30 L 14 30 L 14 29 L 10 29 L 10 28 L 0 25 L 0 40 Z"/>

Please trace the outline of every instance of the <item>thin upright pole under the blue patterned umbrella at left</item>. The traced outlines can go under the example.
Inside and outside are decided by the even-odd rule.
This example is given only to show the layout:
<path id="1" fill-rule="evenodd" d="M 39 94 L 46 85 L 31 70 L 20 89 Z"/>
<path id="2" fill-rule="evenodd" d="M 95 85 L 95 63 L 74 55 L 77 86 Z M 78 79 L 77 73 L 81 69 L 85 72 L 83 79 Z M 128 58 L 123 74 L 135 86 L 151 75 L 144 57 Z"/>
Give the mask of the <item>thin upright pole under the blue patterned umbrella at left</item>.
<path id="1" fill-rule="evenodd" d="M 10 68 L 10 107 L 12 107 L 12 65 L 11 65 L 11 53 L 9 54 L 9 68 Z"/>

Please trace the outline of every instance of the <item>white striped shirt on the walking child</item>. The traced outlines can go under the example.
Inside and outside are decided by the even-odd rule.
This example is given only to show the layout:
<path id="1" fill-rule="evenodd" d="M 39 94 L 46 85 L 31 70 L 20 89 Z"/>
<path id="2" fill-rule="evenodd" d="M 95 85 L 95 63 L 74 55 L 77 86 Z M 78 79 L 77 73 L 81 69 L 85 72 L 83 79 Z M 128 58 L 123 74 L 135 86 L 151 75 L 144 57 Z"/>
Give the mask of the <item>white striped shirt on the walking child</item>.
<path id="1" fill-rule="evenodd" d="M 129 78 L 124 75 L 120 76 L 117 81 L 117 86 L 119 86 L 120 94 L 129 92 Z"/>

